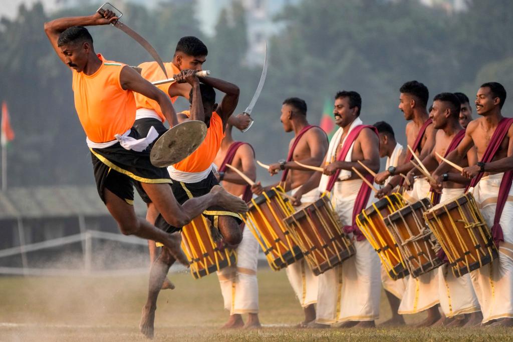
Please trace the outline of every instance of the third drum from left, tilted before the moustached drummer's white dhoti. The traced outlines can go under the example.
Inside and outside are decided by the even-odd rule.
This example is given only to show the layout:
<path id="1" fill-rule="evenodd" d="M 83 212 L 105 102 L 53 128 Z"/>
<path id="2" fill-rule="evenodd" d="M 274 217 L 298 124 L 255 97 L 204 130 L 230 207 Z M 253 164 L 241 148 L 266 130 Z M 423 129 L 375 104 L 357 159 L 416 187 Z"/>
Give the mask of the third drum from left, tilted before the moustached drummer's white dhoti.
<path id="1" fill-rule="evenodd" d="M 285 218 L 284 222 L 315 275 L 342 264 L 356 252 L 326 196 Z"/>

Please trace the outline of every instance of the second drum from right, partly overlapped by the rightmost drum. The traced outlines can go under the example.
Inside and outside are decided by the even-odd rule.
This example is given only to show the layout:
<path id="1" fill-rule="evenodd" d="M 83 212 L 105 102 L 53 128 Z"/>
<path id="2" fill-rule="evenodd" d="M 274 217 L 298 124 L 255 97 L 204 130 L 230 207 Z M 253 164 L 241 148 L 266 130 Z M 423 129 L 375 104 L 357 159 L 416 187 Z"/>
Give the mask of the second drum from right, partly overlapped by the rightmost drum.
<path id="1" fill-rule="evenodd" d="M 442 265 L 436 253 L 440 246 L 424 220 L 423 214 L 429 208 L 431 202 L 423 198 L 384 219 L 414 278 Z"/>

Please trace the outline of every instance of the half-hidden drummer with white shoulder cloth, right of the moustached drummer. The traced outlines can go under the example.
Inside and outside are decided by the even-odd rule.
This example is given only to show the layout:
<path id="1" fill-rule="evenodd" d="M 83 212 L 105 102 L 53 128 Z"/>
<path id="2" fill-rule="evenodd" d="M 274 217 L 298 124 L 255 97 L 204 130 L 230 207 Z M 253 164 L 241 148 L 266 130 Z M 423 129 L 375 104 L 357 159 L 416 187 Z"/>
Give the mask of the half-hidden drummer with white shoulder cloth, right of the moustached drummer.
<path id="1" fill-rule="evenodd" d="M 396 142 L 396 136 L 393 133 L 392 126 L 384 121 L 377 122 L 373 125 L 378 130 L 380 137 L 380 158 L 386 157 L 387 170 L 390 166 L 397 167 L 399 165 L 399 157 L 403 152 L 403 146 Z M 390 178 L 385 180 L 385 185 Z M 404 325 L 404 318 L 397 311 L 404 291 L 406 290 L 407 276 L 398 280 L 393 280 L 388 276 L 386 269 L 381 266 L 381 283 L 385 289 L 388 303 L 392 310 L 392 318 L 383 323 L 384 326 Z"/>

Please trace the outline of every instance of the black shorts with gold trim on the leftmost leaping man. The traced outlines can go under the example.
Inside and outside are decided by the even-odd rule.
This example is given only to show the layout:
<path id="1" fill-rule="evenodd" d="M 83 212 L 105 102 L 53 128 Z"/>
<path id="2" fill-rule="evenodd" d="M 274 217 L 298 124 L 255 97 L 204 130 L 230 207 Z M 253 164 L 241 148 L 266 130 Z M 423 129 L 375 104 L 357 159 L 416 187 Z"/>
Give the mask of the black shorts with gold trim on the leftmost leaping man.
<path id="1" fill-rule="evenodd" d="M 131 137 L 140 138 L 132 129 Z M 105 203 L 104 190 L 108 189 L 116 196 L 133 204 L 133 183 L 168 183 L 171 178 L 166 168 L 157 168 L 150 162 L 150 149 L 142 152 L 124 149 L 119 143 L 110 147 L 90 148 L 94 170 L 94 179 L 98 195 Z"/>

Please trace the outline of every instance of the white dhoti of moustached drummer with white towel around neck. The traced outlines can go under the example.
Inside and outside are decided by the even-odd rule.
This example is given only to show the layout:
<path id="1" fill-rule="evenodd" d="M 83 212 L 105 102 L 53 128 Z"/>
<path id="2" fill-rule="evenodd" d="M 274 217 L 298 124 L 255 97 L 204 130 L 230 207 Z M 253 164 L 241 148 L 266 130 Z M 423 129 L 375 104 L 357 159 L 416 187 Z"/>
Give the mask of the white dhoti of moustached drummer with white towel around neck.
<path id="1" fill-rule="evenodd" d="M 354 201 L 361 179 L 337 182 L 333 203 L 341 224 L 351 225 Z M 372 203 L 373 196 L 369 199 Z M 319 276 L 317 323 L 333 324 L 348 320 L 379 318 L 381 279 L 380 259 L 367 240 L 353 238 L 356 255 Z"/>

